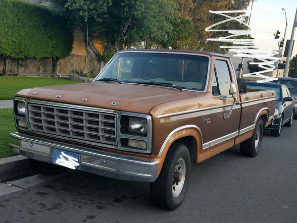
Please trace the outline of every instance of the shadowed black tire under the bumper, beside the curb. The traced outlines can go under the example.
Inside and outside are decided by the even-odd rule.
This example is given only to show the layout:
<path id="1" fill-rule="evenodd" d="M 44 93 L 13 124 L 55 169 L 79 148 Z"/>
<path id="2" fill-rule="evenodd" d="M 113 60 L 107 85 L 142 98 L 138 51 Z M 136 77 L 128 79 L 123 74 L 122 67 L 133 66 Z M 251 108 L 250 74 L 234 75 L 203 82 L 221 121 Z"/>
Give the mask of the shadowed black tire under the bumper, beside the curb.
<path id="1" fill-rule="evenodd" d="M 57 165 L 54 165 L 54 164 L 40 162 L 40 161 L 37 161 L 37 160 L 31 160 L 31 161 L 32 161 L 33 168 L 37 172 L 39 172 L 41 174 L 44 174 L 44 175 L 52 176 L 52 175 L 56 175 L 56 174 L 59 174 L 59 173 L 62 173 L 64 171 L 66 171 L 65 167 L 60 167 L 60 166 L 57 166 Z"/>

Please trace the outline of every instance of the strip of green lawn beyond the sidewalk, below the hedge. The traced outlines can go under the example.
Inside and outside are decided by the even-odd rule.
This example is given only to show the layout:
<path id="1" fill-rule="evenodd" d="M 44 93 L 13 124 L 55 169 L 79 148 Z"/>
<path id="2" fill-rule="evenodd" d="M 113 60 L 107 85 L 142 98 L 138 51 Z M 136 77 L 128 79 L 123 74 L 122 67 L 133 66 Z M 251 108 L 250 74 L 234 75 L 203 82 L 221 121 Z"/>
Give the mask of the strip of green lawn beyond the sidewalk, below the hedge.
<path id="1" fill-rule="evenodd" d="M 0 100 L 12 100 L 16 92 L 33 87 L 81 83 L 61 78 L 0 76 Z"/>

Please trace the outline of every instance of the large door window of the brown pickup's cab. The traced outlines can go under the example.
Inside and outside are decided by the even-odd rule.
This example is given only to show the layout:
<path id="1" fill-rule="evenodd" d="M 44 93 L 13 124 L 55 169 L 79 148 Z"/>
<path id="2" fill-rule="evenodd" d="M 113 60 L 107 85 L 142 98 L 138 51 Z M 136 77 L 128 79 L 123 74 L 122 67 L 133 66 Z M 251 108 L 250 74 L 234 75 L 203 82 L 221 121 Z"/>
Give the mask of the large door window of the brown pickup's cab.
<path id="1" fill-rule="evenodd" d="M 231 79 L 227 61 L 215 60 L 214 67 L 218 78 L 220 94 L 229 95 Z"/>

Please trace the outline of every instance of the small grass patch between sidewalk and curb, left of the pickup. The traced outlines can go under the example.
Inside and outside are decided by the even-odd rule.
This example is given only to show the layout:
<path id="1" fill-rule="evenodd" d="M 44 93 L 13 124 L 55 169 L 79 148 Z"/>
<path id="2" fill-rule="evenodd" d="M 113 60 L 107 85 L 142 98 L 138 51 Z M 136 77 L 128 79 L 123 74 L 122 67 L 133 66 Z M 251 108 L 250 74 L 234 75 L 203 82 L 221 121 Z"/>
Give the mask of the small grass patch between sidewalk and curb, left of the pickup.
<path id="1" fill-rule="evenodd" d="M 8 149 L 8 135 L 15 130 L 12 109 L 0 109 L 0 158 L 16 155 Z"/>

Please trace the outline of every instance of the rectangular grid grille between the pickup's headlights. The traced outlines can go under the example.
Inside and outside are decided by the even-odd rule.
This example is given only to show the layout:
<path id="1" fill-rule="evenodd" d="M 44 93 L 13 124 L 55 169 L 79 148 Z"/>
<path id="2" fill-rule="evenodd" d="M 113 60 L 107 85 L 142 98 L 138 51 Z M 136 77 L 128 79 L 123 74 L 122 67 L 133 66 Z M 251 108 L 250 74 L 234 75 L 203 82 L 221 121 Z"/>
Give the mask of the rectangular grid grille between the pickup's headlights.
<path id="1" fill-rule="evenodd" d="M 33 131 L 117 145 L 113 113 L 33 103 L 28 109 Z"/>

